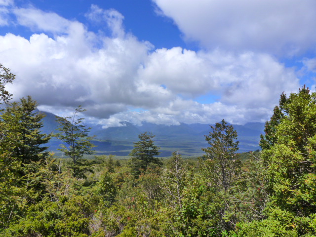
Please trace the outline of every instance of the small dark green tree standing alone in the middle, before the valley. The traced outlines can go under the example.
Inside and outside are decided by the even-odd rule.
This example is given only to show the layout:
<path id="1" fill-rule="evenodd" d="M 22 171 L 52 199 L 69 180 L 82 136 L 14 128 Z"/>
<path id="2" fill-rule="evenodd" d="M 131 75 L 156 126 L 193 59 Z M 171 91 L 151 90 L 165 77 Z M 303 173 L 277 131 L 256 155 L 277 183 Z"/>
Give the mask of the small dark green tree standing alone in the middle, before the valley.
<path id="1" fill-rule="evenodd" d="M 147 170 L 151 165 L 160 166 L 161 162 L 157 157 L 160 153 L 159 148 L 154 145 L 152 140 L 155 136 L 152 133 L 144 132 L 138 135 L 140 141 L 134 143 L 134 149 L 129 156 L 130 166 L 137 175 L 140 174 L 140 170 Z"/>

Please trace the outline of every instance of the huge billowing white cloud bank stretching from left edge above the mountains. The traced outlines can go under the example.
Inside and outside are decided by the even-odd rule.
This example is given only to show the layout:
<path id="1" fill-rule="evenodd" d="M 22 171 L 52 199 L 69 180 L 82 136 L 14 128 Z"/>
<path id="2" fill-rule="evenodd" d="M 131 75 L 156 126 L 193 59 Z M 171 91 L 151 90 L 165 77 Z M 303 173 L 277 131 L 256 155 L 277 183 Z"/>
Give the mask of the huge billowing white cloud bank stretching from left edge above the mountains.
<path id="1" fill-rule="evenodd" d="M 267 53 L 153 50 L 125 34 L 124 17 L 114 9 L 91 6 L 86 17 L 107 25 L 98 33 L 36 8 L 12 12 L 16 24 L 37 34 L 0 36 L 0 62 L 17 76 L 8 90 L 16 100 L 32 95 L 40 109 L 58 115 L 82 105 L 91 121 L 105 126 L 124 120 L 245 123 L 267 119 L 279 94 L 299 87 L 295 72 Z M 218 99 L 197 102 L 205 94 Z"/>

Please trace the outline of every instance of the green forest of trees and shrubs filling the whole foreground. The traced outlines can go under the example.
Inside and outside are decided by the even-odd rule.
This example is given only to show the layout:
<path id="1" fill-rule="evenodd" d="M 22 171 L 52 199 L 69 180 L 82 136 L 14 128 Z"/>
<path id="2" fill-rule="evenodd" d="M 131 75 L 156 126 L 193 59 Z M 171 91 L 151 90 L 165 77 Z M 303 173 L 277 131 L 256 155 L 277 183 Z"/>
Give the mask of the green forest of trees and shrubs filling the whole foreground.
<path id="1" fill-rule="evenodd" d="M 14 75 L 0 64 L 1 237 L 316 236 L 316 93 L 281 94 L 261 151 L 238 154 L 224 119 L 199 158 L 157 158 L 141 133 L 126 160 L 94 156 L 80 106 L 41 133 L 31 96 L 10 102 Z M 61 141 L 62 158 L 49 152 Z"/>

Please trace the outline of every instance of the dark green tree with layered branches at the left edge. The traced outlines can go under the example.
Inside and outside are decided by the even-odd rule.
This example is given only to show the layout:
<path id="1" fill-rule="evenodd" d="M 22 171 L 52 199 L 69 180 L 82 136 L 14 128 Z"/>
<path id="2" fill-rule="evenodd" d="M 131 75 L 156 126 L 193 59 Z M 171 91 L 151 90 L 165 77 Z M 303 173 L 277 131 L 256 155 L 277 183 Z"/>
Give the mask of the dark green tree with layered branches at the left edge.
<path id="1" fill-rule="evenodd" d="M 43 145 L 49 142 L 50 135 L 42 134 L 40 131 L 45 115 L 37 111 L 37 106 L 38 103 L 28 96 L 20 99 L 20 103 L 7 104 L 1 115 L 0 147 L 12 146 L 12 156 L 20 158 L 23 164 L 39 161 L 48 154 L 47 147 Z M 14 142 L 14 146 L 11 142 Z"/>

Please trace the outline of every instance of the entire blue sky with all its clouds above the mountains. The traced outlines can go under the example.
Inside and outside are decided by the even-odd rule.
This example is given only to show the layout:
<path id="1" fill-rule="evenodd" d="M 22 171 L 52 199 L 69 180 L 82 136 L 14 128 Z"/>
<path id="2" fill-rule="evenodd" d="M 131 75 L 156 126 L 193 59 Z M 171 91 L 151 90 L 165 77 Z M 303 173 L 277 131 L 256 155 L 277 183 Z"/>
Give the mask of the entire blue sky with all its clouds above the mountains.
<path id="1" fill-rule="evenodd" d="M 265 122 L 315 91 L 315 0 L 0 0 L 13 100 L 87 121 Z"/>

